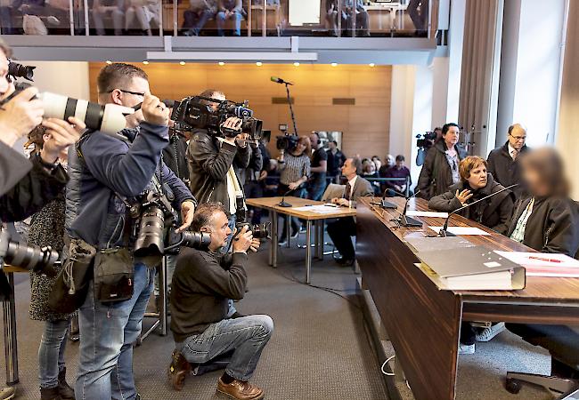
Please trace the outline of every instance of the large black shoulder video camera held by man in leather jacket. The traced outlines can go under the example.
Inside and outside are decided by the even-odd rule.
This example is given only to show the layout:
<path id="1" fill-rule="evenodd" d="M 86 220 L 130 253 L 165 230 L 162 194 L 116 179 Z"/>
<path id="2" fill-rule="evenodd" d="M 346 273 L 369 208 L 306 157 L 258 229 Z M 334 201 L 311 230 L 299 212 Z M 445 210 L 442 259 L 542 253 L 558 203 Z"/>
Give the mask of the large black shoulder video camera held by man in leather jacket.
<path id="1" fill-rule="evenodd" d="M 216 109 L 211 104 L 216 104 Z M 201 96 L 185 97 L 181 101 L 175 100 L 171 120 L 180 129 L 207 129 L 216 135 L 233 137 L 239 131 L 221 126 L 231 116 L 242 120 L 241 132 L 249 133 L 249 140 L 261 140 L 263 121 L 253 117 L 253 110 L 248 108 L 247 100 L 236 103 Z"/>

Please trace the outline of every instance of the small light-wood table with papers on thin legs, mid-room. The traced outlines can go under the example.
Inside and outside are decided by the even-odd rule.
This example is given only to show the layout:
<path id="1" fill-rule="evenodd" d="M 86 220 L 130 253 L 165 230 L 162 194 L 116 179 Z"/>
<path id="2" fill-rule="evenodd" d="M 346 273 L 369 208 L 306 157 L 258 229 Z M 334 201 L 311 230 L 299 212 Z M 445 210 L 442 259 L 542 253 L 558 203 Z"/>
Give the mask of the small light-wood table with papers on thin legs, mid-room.
<path id="1" fill-rule="evenodd" d="M 287 217 L 298 217 L 302 220 L 306 220 L 306 284 L 310 284 L 310 273 L 312 269 L 312 224 L 314 221 L 320 222 L 316 226 L 315 248 L 318 254 L 318 258 L 323 257 L 323 221 L 333 218 L 343 218 L 343 217 L 354 217 L 356 211 L 354 208 L 338 207 L 336 212 L 330 214 L 321 214 L 317 212 L 307 212 L 298 211 L 296 208 L 303 207 L 305 205 L 316 205 L 324 204 L 323 202 L 316 202 L 314 200 L 308 200 L 306 198 L 300 197 L 285 197 L 286 203 L 292 205 L 292 207 L 281 207 L 280 202 L 282 197 L 262 197 L 262 198 L 249 198 L 246 200 L 246 204 L 252 207 L 263 208 L 270 212 L 272 220 L 272 248 L 270 250 L 269 264 L 272 267 L 277 267 L 277 246 L 278 246 L 278 214 L 285 215 Z"/>

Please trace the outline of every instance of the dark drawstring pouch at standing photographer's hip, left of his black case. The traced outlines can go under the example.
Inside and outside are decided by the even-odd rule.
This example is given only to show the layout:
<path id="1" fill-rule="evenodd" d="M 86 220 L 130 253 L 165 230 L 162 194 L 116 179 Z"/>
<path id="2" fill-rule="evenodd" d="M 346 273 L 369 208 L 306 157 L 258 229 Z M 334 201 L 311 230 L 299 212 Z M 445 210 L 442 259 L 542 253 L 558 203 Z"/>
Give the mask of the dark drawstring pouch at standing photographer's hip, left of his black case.
<path id="1" fill-rule="evenodd" d="M 48 308 L 54 312 L 71 314 L 82 306 L 93 278 L 93 262 L 96 249 L 82 239 L 70 240 L 68 257 L 64 261 L 53 289 L 48 297 Z"/>

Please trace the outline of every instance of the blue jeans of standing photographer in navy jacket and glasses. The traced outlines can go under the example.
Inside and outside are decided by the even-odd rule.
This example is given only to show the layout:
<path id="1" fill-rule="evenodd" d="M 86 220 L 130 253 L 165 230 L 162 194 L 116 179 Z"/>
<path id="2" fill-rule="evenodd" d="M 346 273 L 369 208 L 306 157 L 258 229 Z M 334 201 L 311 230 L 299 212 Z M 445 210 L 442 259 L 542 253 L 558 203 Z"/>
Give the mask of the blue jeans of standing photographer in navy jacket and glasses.
<path id="1" fill-rule="evenodd" d="M 141 334 L 154 276 L 155 269 L 135 264 L 133 297 L 112 303 L 95 300 L 91 282 L 78 312 L 81 340 L 77 400 L 135 398 L 133 342 Z"/>

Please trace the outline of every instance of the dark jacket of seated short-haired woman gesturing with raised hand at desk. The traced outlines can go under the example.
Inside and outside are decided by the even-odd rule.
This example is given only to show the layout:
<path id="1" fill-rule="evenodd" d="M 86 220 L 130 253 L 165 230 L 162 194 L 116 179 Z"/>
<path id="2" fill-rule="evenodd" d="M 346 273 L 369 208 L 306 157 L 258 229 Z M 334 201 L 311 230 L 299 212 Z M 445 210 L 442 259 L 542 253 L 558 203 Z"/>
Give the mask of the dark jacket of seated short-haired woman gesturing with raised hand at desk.
<path id="1" fill-rule="evenodd" d="M 503 188 L 500 183 L 493 180 L 493 175 L 489 173 L 487 174 L 485 188 L 473 191 L 468 182 L 460 181 L 448 188 L 448 192 L 443 195 L 432 197 L 428 202 L 428 207 L 436 211 L 453 212 L 462 207 L 461 202 L 455 196 L 457 189 L 459 192 L 469 189 L 473 196 L 470 197 L 468 203 L 472 203 Z M 458 213 L 469 220 L 476 220 L 478 223 L 485 225 L 485 227 L 504 235 L 509 229 L 514 203 L 515 195 L 510 190 L 505 190 Z"/>

